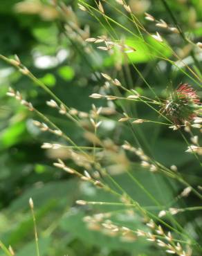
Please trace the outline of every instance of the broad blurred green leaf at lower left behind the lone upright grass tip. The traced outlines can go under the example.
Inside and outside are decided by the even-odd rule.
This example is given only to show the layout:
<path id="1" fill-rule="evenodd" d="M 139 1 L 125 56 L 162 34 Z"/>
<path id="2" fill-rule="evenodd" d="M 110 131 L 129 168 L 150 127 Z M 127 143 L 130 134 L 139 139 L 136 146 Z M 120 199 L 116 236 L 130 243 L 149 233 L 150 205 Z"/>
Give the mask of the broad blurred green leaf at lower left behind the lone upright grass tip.
<path id="1" fill-rule="evenodd" d="M 6 212 L 7 216 L 13 216 L 13 213 L 15 213 L 17 217 L 13 223 L 10 223 L 8 231 L 1 232 L 1 238 L 6 243 L 14 246 L 25 239 L 30 230 L 33 230 L 33 218 L 28 204 L 30 197 L 32 197 L 35 205 L 35 216 L 39 225 L 47 214 L 58 211 L 57 215 L 54 216 L 55 219 L 56 216 L 62 214 L 64 208 L 72 205 L 75 199 L 75 191 L 77 191 L 77 181 L 74 179 L 48 183 L 40 188 L 30 188 L 9 206 Z M 25 210 L 29 213 L 26 213 L 23 219 L 19 218 Z"/>

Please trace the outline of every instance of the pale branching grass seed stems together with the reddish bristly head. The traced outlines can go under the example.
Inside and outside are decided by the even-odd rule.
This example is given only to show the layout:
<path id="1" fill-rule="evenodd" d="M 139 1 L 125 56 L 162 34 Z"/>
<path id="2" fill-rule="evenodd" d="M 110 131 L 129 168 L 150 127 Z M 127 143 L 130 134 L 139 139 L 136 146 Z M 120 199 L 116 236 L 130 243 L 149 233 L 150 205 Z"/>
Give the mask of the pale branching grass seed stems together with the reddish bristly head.
<path id="1" fill-rule="evenodd" d="M 138 39 L 141 40 L 141 43 L 144 44 L 145 48 L 149 47 L 149 51 L 151 51 L 154 49 L 154 46 L 148 46 L 149 43 L 146 42 L 142 33 L 145 33 L 147 36 L 149 35 L 149 37 L 152 36 L 154 39 L 156 39 L 158 44 L 163 44 L 163 38 L 160 36 L 160 34 L 157 32 L 156 35 L 150 35 L 140 21 L 137 21 L 136 16 L 133 15 L 131 8 L 125 3 L 125 1 L 118 0 L 116 3 L 123 7 L 125 12 L 127 12 L 127 15 L 129 15 L 127 18 L 129 18 L 129 21 L 132 21 L 133 25 L 136 26 L 136 29 L 140 34 L 140 38 Z M 98 15 L 101 15 L 101 17 L 104 18 L 104 21 L 107 22 L 109 28 L 111 28 L 111 23 L 115 23 L 117 25 L 116 21 L 106 15 L 104 6 L 100 1 L 97 3 L 98 8 L 89 6 L 89 4 L 85 3 L 85 1 L 80 1 L 79 7 L 82 11 L 89 12 L 89 14 L 91 14 L 93 17 L 97 17 L 95 13 L 97 14 L 98 12 Z M 170 32 L 176 33 L 176 36 L 181 33 L 178 28 L 169 26 L 163 19 L 158 21 L 148 13 L 146 13 L 145 16 L 147 20 L 156 22 L 156 26 L 158 28 L 166 28 Z M 99 17 L 97 17 L 97 19 L 100 21 Z M 100 23 L 102 24 L 101 21 Z M 120 27 L 128 32 L 128 29 L 125 28 L 125 26 Z M 144 87 L 143 90 L 140 90 L 136 84 L 134 85 L 133 79 L 131 79 L 132 86 L 130 87 L 127 84 L 129 77 L 127 77 L 125 82 L 125 79 L 123 78 L 124 75 L 118 76 L 119 73 L 130 74 L 128 67 L 130 63 L 128 54 L 135 53 L 136 48 L 125 44 L 125 40 L 122 38 L 112 38 L 111 33 L 109 33 L 109 36 L 99 35 L 84 38 L 81 36 L 82 31 L 80 28 L 76 26 L 75 29 L 71 23 L 66 24 L 65 34 L 66 31 L 71 33 L 71 40 L 75 39 L 75 41 L 77 41 L 77 43 L 79 42 L 85 49 L 88 48 L 90 43 L 93 43 L 94 46 L 104 44 L 102 46 L 97 46 L 97 48 L 98 50 L 104 51 L 107 54 L 109 53 L 109 55 L 111 55 L 113 51 L 119 51 L 121 56 L 120 65 L 117 66 L 114 64 L 115 72 L 111 72 L 113 73 L 112 75 L 109 75 L 108 73 L 96 73 L 96 76 L 99 78 L 99 80 L 96 80 L 96 83 L 99 85 L 102 84 L 102 86 L 96 86 L 95 91 L 93 91 L 93 93 L 89 96 L 93 100 L 107 100 L 106 106 L 95 107 L 95 104 L 93 104 L 92 109 L 89 110 L 89 112 L 67 107 L 64 102 L 59 100 L 59 98 L 57 98 L 52 91 L 47 89 L 45 84 L 40 82 L 40 80 L 37 80 L 37 78 L 30 73 L 28 68 L 21 64 L 18 57 L 15 57 L 15 60 L 10 60 L 1 56 L 1 59 L 6 60 L 6 62 L 9 64 L 17 67 L 23 75 L 28 76 L 31 80 L 33 80 L 33 82 L 41 86 L 42 89 L 44 89 L 51 96 L 51 99 L 46 102 L 48 107 L 56 109 L 60 115 L 64 116 L 64 118 L 68 118 L 75 125 L 77 125 L 77 127 L 79 127 L 79 129 L 81 129 L 83 132 L 84 142 L 86 145 L 77 145 L 69 136 L 65 134 L 64 131 L 62 131 L 62 129 L 59 129 L 54 122 L 52 122 L 49 118 L 46 118 L 43 113 L 37 111 L 37 109 L 33 107 L 32 103 L 24 100 L 19 91 L 15 91 L 14 89 L 10 88 L 7 95 L 19 100 L 19 102 L 27 107 L 29 111 L 33 111 L 40 119 L 43 120 L 33 120 L 33 125 L 35 125 L 40 131 L 48 131 L 62 140 L 61 143 L 55 143 L 52 141 L 43 143 L 42 149 L 53 149 L 53 151 L 57 151 L 57 149 L 61 148 L 65 149 L 68 154 L 68 158 L 70 158 L 73 164 L 77 166 L 78 170 L 76 170 L 76 168 L 68 167 L 65 160 L 62 158 L 58 158 L 57 162 L 53 163 L 55 167 L 59 168 L 59 170 L 67 172 L 68 174 L 77 176 L 82 182 L 91 183 L 96 188 L 113 194 L 113 196 L 116 196 L 119 202 L 114 203 L 114 205 L 117 204 L 119 206 L 122 205 L 129 207 L 133 212 L 142 218 L 141 221 L 145 224 L 145 230 L 134 230 L 127 226 L 121 226 L 119 223 L 114 223 L 111 219 L 109 219 L 112 216 L 111 213 L 100 213 L 84 217 L 84 221 L 90 229 L 102 231 L 107 235 L 118 236 L 123 241 L 127 240 L 134 242 L 136 239 L 138 239 L 138 237 L 143 237 L 147 241 L 154 242 L 156 246 L 163 248 L 165 252 L 169 254 L 179 256 L 192 255 L 191 247 L 197 245 L 200 248 L 200 246 L 195 237 L 187 234 L 187 230 L 181 226 L 181 223 L 176 221 L 174 215 L 178 213 L 182 214 L 188 210 L 201 210 L 200 207 L 181 208 L 177 205 L 178 201 L 190 196 L 191 193 L 201 200 L 202 195 L 198 191 L 198 189 L 201 189 L 201 186 L 196 189 L 194 188 L 194 185 L 190 185 L 184 176 L 181 175 L 178 167 L 176 167 L 175 164 L 171 163 L 169 167 L 167 167 L 163 163 L 160 163 L 160 161 L 157 161 L 155 159 L 155 154 L 153 155 L 149 145 L 147 145 L 147 149 L 150 150 L 148 150 L 149 153 L 146 154 L 142 143 L 144 134 L 142 131 L 140 131 L 138 126 L 142 124 L 147 125 L 149 122 L 152 123 L 152 125 L 163 125 L 163 127 L 172 128 L 174 131 L 179 130 L 179 133 L 181 134 L 183 133 L 183 131 L 181 131 L 181 127 L 183 127 L 185 131 L 190 134 L 190 140 L 192 143 L 190 145 L 183 135 L 183 138 L 187 143 L 186 152 L 194 154 L 196 160 L 201 164 L 199 156 L 202 155 L 202 148 L 199 145 L 199 136 L 193 134 L 192 132 L 192 129 L 198 129 L 197 131 L 201 132 L 202 118 L 199 96 L 197 95 L 196 91 L 194 91 L 192 86 L 188 85 L 187 83 L 183 83 L 180 84 L 177 89 L 174 89 L 171 93 L 169 93 L 165 100 L 160 100 L 153 87 L 149 84 L 149 82 L 147 82 L 144 75 L 142 75 L 138 68 L 136 68 L 136 65 L 131 64 L 136 73 L 140 75 L 140 80 L 147 86 L 147 89 L 152 92 L 152 95 L 154 95 L 152 98 L 152 96 L 144 94 Z M 107 30 L 107 32 L 109 31 Z M 87 33 L 87 35 L 89 34 L 90 33 Z M 199 43 L 197 45 L 201 47 Z M 91 55 L 91 53 L 93 54 L 92 49 L 86 52 L 89 55 Z M 172 60 L 166 59 L 166 57 L 161 53 L 156 52 L 155 54 L 157 53 L 159 54 L 160 59 L 165 59 L 169 64 L 173 63 Z M 173 53 L 173 55 L 174 57 L 177 56 L 178 59 L 178 55 L 176 55 L 176 53 Z M 188 70 L 190 73 L 194 73 L 192 68 L 189 66 Z M 187 73 L 185 74 L 187 75 Z M 131 76 L 131 74 L 129 76 Z M 187 75 L 187 77 L 190 77 L 190 74 Z M 195 78 L 197 77 L 198 75 L 195 75 Z M 195 78 L 193 78 L 193 80 Z M 104 80 L 104 84 L 102 80 Z M 143 106 L 147 107 L 149 111 L 152 111 L 151 113 L 154 112 L 154 116 L 156 115 L 156 120 L 149 120 L 149 118 L 147 119 L 145 117 L 142 118 L 142 116 L 138 116 L 138 104 L 143 104 Z M 111 116 L 113 118 L 111 118 Z M 124 140 L 122 140 L 121 136 L 117 136 L 114 141 L 113 139 L 105 138 L 104 136 L 106 132 L 104 129 L 104 132 L 102 135 L 100 135 L 99 131 L 100 129 L 102 130 L 102 126 L 104 127 L 104 124 L 106 124 L 107 121 L 108 123 L 111 121 L 111 123 L 113 122 L 116 124 L 115 127 L 118 127 L 116 134 L 121 134 L 122 130 L 124 132 L 131 132 L 135 138 L 136 145 L 134 145 L 134 140 L 131 140 L 131 142 L 127 142 L 125 140 L 125 143 L 123 143 Z M 125 127 L 127 127 L 127 129 L 125 129 Z M 128 154 L 132 154 L 132 156 L 130 157 Z M 135 167 L 134 163 L 136 164 Z M 115 167 L 112 168 L 111 166 Z M 136 170 L 136 166 L 138 166 L 140 172 L 149 171 L 152 175 L 154 175 L 154 177 L 155 175 L 163 174 L 167 177 L 167 179 L 172 178 L 172 180 L 183 185 L 183 190 L 181 190 L 182 192 L 178 194 L 178 192 L 175 191 L 174 193 L 176 193 L 176 195 L 173 201 L 171 201 L 169 204 L 163 205 L 162 203 L 159 203 L 158 199 L 156 199 L 155 196 L 153 196 L 152 193 L 145 188 L 144 184 L 140 183 L 140 181 L 133 176 L 135 172 L 138 172 Z M 127 193 L 125 188 L 122 188 L 122 185 L 120 185 L 114 178 L 113 174 L 117 173 L 111 170 L 116 170 L 117 173 L 120 172 L 121 174 L 127 174 L 131 181 L 134 181 L 141 191 L 143 191 L 148 198 L 152 200 L 151 202 L 154 203 L 152 206 L 155 207 L 155 212 L 149 211 L 147 207 L 143 207 L 141 203 L 136 201 L 133 196 Z M 90 202 L 85 200 L 77 200 L 76 203 L 78 205 L 104 205 L 104 203 L 105 205 L 110 205 L 110 203 L 107 202 Z M 113 205 L 113 203 L 111 203 L 111 205 Z M 163 218 L 165 218 L 165 221 Z"/>

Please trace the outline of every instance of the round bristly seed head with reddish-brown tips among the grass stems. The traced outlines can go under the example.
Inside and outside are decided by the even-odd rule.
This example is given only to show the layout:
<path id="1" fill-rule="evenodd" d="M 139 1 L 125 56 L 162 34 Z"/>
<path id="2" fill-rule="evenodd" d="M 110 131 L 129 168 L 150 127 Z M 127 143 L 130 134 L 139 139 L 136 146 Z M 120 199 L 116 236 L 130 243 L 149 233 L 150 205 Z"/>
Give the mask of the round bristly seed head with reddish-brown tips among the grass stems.
<path id="1" fill-rule="evenodd" d="M 161 109 L 162 113 L 176 125 L 192 121 L 196 117 L 197 109 L 201 108 L 199 96 L 189 84 L 180 84 L 172 91 Z"/>

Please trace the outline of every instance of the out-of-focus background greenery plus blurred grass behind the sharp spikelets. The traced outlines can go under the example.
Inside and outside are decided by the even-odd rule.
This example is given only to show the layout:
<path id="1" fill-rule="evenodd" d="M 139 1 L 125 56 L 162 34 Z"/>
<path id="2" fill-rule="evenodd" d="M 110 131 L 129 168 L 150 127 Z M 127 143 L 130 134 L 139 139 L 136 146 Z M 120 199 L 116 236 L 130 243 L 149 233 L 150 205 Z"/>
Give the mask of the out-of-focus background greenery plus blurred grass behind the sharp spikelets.
<path id="1" fill-rule="evenodd" d="M 98 1 L 85 2 L 98 10 Z M 46 84 L 48 89 L 71 110 L 89 112 L 92 104 L 96 107 L 104 107 L 104 118 L 98 129 L 98 136 L 108 150 L 104 156 L 100 154 L 102 165 L 107 167 L 108 172 L 121 188 L 140 205 L 154 207 L 156 216 L 160 210 L 167 207 L 190 208 L 201 205 L 201 199 L 194 193 L 190 193 L 186 198 L 178 197 L 187 187 L 186 185 L 163 174 L 154 174 L 145 170 L 139 165 L 137 156 L 131 154 L 127 157 L 127 154 L 120 149 L 125 140 L 136 147 L 140 143 L 145 152 L 152 155 L 156 161 L 168 168 L 176 165 L 183 178 L 197 189 L 197 185 L 202 183 L 200 156 L 197 160 L 193 154 L 185 153 L 187 141 L 190 143 L 190 136 L 183 129 L 173 131 L 165 125 L 156 125 L 154 122 L 140 125 L 121 123 L 118 120 L 122 118 L 123 111 L 136 118 L 156 120 L 156 122 L 163 120 L 158 113 L 141 102 L 135 104 L 124 100 L 107 101 L 89 98 L 91 93 L 102 94 L 104 90 L 110 91 L 105 88 L 106 84 L 105 87 L 103 86 L 105 80 L 100 72 L 117 77 L 122 83 L 127 84 L 127 89 L 136 89 L 140 95 L 149 98 L 155 98 L 154 94 L 156 94 L 160 99 L 165 99 L 167 88 L 170 86 L 176 88 L 181 82 L 192 84 L 200 95 L 200 81 L 189 70 L 185 70 L 184 64 L 180 61 L 176 62 L 173 51 L 201 77 L 201 50 L 184 40 L 181 35 L 164 28 L 157 28 L 154 22 L 145 19 L 144 13 L 149 12 L 157 20 L 163 19 L 175 27 L 174 19 L 167 11 L 164 1 L 129 1 L 132 12 L 147 31 L 155 34 L 158 30 L 160 35 L 166 38 L 162 45 L 150 38 L 147 33 L 144 34 L 153 48 L 152 54 L 150 54 L 151 48 L 149 50 L 142 44 L 141 35 L 134 23 L 127 19 L 129 15 L 124 8 L 116 1 L 107 2 L 102 1 L 105 13 L 127 30 L 113 21 L 107 21 L 94 9 L 91 9 L 91 13 L 80 10 L 77 1 L 1 0 L 1 54 L 6 57 L 17 55 L 35 77 Z M 200 42 L 202 1 L 167 2 L 185 37 L 193 44 Z M 134 37 L 133 33 L 138 37 Z M 136 48 L 137 52 L 130 53 L 129 60 L 125 60 L 118 52 L 110 55 L 96 48 L 100 45 L 85 42 L 89 37 L 101 35 L 117 40 L 125 39 L 129 46 Z M 160 53 L 165 57 L 160 58 Z M 181 68 L 176 68 L 175 64 Z M 103 234 L 100 230 L 96 230 L 96 226 L 91 228 L 86 226 L 83 221 L 84 216 L 100 212 L 113 212 L 111 217 L 113 221 L 134 230 L 144 229 L 145 224 L 143 219 L 130 208 L 75 204 L 78 199 L 106 202 L 116 202 L 117 199 L 53 167 L 55 158 L 62 158 L 66 165 L 79 172 L 87 168 L 80 163 L 80 167 L 77 167 L 68 150 L 64 148 L 56 151 L 42 149 L 41 145 L 44 142 L 64 143 L 64 140 L 37 129 L 32 122 L 33 119 L 38 120 L 35 113 L 28 111 L 12 98 L 8 98 L 6 92 L 9 86 L 20 91 L 28 102 L 32 102 L 36 109 L 42 111 L 77 145 L 83 147 L 92 147 L 93 144 L 91 138 L 93 128 L 89 120 L 82 119 L 82 127 L 85 128 L 83 131 L 68 118 L 59 116 L 55 109 L 47 106 L 46 101 L 51 98 L 46 91 L 17 71 L 15 67 L 3 61 L 0 62 L 0 78 L 0 239 L 3 244 L 11 245 L 19 256 L 36 255 L 33 218 L 28 205 L 28 200 L 32 197 L 35 203 L 41 256 L 165 255 L 164 250 L 160 250 L 146 239 L 124 241 L 118 236 L 109 237 L 109 234 Z M 152 90 L 148 88 L 147 81 L 151 84 Z M 153 94 L 152 91 L 155 93 Z M 113 93 L 119 95 L 116 89 Z M 125 91 L 121 93 L 123 97 L 128 95 Z M 80 115 L 82 116 L 82 113 Z M 132 164 L 129 164 L 129 159 Z M 125 172 L 127 169 L 134 174 L 136 183 L 129 179 Z M 114 184 L 106 177 L 104 181 L 116 190 Z M 152 199 L 141 188 L 141 184 L 152 194 Z M 154 199 L 159 203 L 158 208 L 155 208 Z M 183 230 L 200 242 L 201 211 L 187 211 L 176 214 L 175 217 Z M 165 221 L 173 225 L 169 217 L 165 217 Z M 178 227 L 176 223 L 173 226 Z M 4 255 L 3 251 L 0 255 Z M 193 255 L 200 253 L 196 250 Z"/>

